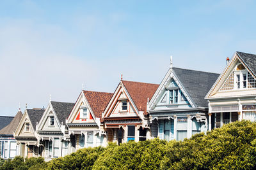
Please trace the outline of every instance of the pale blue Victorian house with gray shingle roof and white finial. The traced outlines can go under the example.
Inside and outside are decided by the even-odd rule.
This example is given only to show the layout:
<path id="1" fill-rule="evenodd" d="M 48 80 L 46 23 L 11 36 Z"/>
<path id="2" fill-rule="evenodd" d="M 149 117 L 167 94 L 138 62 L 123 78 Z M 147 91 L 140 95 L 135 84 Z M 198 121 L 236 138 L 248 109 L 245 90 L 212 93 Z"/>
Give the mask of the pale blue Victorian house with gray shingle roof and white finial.
<path id="1" fill-rule="evenodd" d="M 167 141 L 191 138 L 207 131 L 208 104 L 205 94 L 220 74 L 173 67 L 148 103 L 151 133 Z"/>

